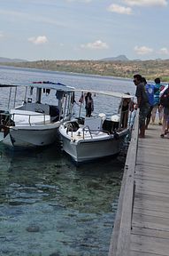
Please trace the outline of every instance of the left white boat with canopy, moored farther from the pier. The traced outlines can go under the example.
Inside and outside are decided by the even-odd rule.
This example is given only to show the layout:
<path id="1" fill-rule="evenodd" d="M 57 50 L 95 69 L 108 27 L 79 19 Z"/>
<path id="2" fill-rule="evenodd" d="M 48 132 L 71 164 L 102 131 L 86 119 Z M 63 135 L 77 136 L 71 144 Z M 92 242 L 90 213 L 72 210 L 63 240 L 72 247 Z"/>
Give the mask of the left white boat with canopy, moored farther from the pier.
<path id="1" fill-rule="evenodd" d="M 2 143 L 14 148 L 30 148 L 50 145 L 58 139 L 64 111 L 65 116 L 71 115 L 66 104 L 70 104 L 73 87 L 47 81 L 0 84 L 0 88 L 10 88 L 7 110 L 0 110 Z M 15 107 L 20 101 L 21 105 Z"/>

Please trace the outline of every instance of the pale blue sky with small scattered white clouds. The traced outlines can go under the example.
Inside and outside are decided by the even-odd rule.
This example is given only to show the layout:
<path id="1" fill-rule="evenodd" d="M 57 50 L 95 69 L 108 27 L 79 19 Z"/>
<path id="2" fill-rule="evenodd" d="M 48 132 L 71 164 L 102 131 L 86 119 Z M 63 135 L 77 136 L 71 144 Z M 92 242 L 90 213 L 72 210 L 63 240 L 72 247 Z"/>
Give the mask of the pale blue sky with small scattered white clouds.
<path id="1" fill-rule="evenodd" d="M 169 59 L 169 0 L 0 0 L 0 57 Z"/>

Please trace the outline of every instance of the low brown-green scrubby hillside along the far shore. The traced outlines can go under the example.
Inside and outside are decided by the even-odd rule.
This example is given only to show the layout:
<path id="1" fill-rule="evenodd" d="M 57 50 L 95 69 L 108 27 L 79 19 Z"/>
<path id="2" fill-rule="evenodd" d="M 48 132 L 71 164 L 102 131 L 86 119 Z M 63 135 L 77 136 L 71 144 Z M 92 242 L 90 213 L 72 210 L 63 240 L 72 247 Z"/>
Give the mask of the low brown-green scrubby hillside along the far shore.
<path id="1" fill-rule="evenodd" d="M 106 58 L 107 59 L 107 58 Z M 37 60 L 23 62 L 5 62 L 1 65 L 19 68 L 40 68 L 44 70 L 72 72 L 99 76 L 117 76 L 132 78 L 141 74 L 147 80 L 160 77 L 169 83 L 169 60 Z"/>

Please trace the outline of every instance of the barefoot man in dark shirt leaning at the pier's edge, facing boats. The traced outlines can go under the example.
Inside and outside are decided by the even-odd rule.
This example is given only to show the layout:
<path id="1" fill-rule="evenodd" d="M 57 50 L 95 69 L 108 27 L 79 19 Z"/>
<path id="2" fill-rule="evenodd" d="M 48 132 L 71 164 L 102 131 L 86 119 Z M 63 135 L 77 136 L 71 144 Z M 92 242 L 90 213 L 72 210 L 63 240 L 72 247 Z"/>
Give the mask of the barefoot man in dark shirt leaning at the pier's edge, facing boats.
<path id="1" fill-rule="evenodd" d="M 140 138 L 145 137 L 145 119 L 150 110 L 149 99 L 145 90 L 145 85 L 142 83 L 142 76 L 134 75 L 134 84 L 136 85 L 135 96 L 137 98 L 137 108 L 140 108 L 139 114 L 139 128 Z"/>

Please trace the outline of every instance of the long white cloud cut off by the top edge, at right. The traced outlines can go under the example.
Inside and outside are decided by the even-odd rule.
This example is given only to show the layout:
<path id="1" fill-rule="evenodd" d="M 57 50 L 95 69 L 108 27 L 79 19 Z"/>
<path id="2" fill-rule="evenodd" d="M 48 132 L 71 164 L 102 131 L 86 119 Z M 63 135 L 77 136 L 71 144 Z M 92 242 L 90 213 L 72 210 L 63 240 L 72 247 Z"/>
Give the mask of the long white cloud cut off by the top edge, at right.
<path id="1" fill-rule="evenodd" d="M 138 6 L 166 6 L 166 0 L 124 0 L 128 5 L 138 5 Z"/>

